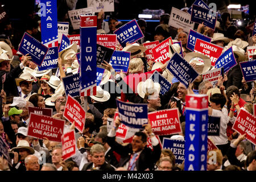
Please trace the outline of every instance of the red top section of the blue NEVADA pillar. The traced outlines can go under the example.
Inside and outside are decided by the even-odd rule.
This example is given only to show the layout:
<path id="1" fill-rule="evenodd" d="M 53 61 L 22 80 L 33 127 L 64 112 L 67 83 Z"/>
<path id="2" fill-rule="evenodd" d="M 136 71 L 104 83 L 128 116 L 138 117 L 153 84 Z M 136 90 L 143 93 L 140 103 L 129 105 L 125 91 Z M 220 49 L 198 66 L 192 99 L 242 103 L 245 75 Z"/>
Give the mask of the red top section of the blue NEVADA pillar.
<path id="1" fill-rule="evenodd" d="M 188 94 L 186 96 L 186 108 L 192 109 L 207 109 L 208 96 L 205 94 Z"/>

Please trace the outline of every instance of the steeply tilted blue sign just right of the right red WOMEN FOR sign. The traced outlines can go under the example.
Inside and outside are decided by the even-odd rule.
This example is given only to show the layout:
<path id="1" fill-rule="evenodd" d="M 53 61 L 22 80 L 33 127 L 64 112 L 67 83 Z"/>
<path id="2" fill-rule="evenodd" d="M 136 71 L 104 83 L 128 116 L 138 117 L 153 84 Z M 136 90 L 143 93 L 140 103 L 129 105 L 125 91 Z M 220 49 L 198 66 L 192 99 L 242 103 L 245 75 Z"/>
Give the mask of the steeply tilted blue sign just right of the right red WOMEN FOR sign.
<path id="1" fill-rule="evenodd" d="M 237 65 L 236 57 L 234 57 L 233 48 L 230 47 L 226 50 L 220 57 L 218 57 L 215 68 L 224 68 L 224 73 L 229 71 L 229 69 L 233 68 Z"/>

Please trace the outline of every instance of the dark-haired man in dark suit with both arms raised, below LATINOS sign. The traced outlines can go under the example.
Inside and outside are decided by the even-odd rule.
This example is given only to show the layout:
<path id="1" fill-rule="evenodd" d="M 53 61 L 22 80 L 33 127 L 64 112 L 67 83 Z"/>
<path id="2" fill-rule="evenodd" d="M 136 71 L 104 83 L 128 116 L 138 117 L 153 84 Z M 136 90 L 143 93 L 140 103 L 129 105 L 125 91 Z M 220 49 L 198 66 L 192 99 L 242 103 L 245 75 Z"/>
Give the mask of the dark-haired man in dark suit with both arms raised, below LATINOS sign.
<path id="1" fill-rule="evenodd" d="M 107 142 L 115 152 L 121 155 L 119 167 L 124 167 L 128 171 L 152 170 L 154 164 L 159 160 L 161 148 L 155 134 L 152 133 L 150 124 L 144 125 L 145 133 L 151 138 L 153 151 L 147 148 L 147 135 L 141 131 L 135 133 L 133 141 L 126 146 L 115 141 L 115 133 L 120 125 L 120 118 L 115 119 L 114 127 L 108 134 Z"/>

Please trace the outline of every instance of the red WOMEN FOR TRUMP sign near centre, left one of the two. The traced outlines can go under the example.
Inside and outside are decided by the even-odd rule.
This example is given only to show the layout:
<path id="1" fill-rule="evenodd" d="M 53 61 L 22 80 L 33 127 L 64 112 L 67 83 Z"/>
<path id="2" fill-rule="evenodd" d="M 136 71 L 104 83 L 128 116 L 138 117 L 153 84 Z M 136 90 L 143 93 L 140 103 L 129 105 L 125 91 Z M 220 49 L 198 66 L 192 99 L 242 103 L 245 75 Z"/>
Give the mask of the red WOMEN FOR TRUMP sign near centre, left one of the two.
<path id="1" fill-rule="evenodd" d="M 170 37 L 151 49 L 155 62 L 164 64 L 171 59 L 169 56 L 169 40 L 172 43 L 172 38 Z"/>

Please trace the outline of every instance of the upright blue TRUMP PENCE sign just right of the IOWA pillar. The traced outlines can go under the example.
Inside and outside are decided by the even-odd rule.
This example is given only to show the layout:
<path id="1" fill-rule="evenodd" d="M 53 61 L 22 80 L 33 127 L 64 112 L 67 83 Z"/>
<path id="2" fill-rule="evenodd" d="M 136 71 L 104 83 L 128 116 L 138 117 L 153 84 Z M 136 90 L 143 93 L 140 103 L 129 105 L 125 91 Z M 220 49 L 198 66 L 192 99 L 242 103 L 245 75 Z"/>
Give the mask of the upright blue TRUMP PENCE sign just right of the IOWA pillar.
<path id="1" fill-rule="evenodd" d="M 109 63 L 114 68 L 115 72 L 127 73 L 131 52 L 126 51 L 114 51 Z"/>

